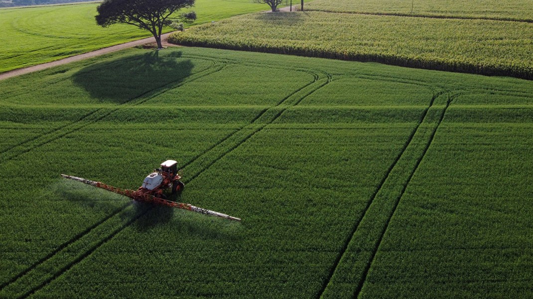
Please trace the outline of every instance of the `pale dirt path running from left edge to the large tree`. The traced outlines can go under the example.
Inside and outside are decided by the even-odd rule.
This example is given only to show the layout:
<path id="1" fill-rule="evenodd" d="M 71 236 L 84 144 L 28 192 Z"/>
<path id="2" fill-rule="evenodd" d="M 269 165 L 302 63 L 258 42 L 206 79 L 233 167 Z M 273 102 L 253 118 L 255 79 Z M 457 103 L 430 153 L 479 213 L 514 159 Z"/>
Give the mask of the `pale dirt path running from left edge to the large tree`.
<path id="1" fill-rule="evenodd" d="M 163 43 L 164 46 L 177 46 L 177 45 L 174 45 L 174 44 L 169 44 L 167 42 L 167 38 L 168 38 L 168 36 L 170 34 L 171 34 L 171 32 L 166 33 L 166 34 L 162 34 L 161 35 L 161 42 Z M 67 58 L 64 58 L 64 59 L 60 59 L 60 60 L 56 60 L 56 61 L 46 62 L 46 63 L 43 63 L 43 64 L 37 64 L 36 66 L 32 66 L 32 67 L 6 71 L 6 72 L 3 72 L 2 74 L 0 74 L 0 80 L 4 80 L 4 79 L 7 79 L 7 78 L 20 76 L 20 75 L 24 75 L 24 74 L 28 74 L 28 73 L 34 72 L 34 71 L 44 70 L 44 69 L 55 67 L 55 66 L 60 66 L 61 64 L 66 64 L 66 63 L 70 63 L 70 62 L 74 62 L 74 61 L 84 60 L 84 59 L 91 58 L 91 57 L 94 57 L 94 56 L 100 56 L 100 55 L 103 55 L 103 54 L 116 52 L 116 51 L 119 51 L 119 50 L 123 50 L 123 49 L 127 49 L 127 48 L 130 48 L 130 47 L 134 47 L 134 46 L 148 44 L 148 43 L 155 43 L 154 37 L 148 37 L 148 38 L 139 39 L 139 40 L 133 41 L 133 42 L 114 45 L 114 46 L 110 46 L 110 47 L 103 48 L 103 49 L 100 49 L 100 50 L 87 52 L 87 53 L 79 54 L 79 55 L 74 55 L 74 56 L 70 56 L 70 57 L 67 57 Z"/>

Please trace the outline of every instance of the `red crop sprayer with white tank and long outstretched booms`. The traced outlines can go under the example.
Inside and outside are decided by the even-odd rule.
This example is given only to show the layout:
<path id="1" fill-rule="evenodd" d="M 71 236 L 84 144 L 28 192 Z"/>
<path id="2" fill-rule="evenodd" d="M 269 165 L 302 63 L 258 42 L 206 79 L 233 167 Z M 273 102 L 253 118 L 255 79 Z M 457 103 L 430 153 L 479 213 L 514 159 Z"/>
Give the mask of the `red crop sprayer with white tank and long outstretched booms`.
<path id="1" fill-rule="evenodd" d="M 96 188 L 102 188 L 126 197 L 129 197 L 135 201 L 142 201 L 143 203 L 152 203 L 157 205 L 163 205 L 167 207 L 186 209 L 191 212 L 222 217 L 229 220 L 240 221 L 239 218 L 232 217 L 219 212 L 211 211 L 208 209 L 196 207 L 190 204 L 177 203 L 176 201 L 168 200 L 165 193 L 166 189 L 171 189 L 171 194 L 175 195 L 183 191 L 185 184 L 181 181 L 183 176 L 182 171 L 177 171 L 177 162 L 174 160 L 166 160 L 161 163 L 161 168 L 154 169 L 154 172 L 149 174 L 144 179 L 142 186 L 136 191 L 128 189 L 120 189 L 106 185 L 101 182 L 95 182 L 82 177 L 61 174 L 62 177 L 78 182 L 85 183 L 87 185 L 94 186 Z"/>

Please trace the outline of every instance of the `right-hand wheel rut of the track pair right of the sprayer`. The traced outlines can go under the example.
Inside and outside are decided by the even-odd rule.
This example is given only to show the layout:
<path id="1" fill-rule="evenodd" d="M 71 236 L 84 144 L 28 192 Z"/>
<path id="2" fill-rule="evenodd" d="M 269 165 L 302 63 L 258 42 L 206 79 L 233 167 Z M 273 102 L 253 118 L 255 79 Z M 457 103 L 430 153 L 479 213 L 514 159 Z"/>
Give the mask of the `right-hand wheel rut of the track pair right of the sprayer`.
<path id="1" fill-rule="evenodd" d="M 365 281 L 366 281 L 367 276 L 368 276 L 368 271 L 370 270 L 370 267 L 372 266 L 372 263 L 374 262 L 374 258 L 376 257 L 376 253 L 379 250 L 379 246 L 381 246 L 381 241 L 383 240 L 383 237 L 385 236 L 385 233 L 386 233 L 387 229 L 389 228 L 389 224 L 391 222 L 391 219 L 394 216 L 394 213 L 396 212 L 396 210 L 398 208 L 398 205 L 400 204 L 400 200 L 403 197 L 403 194 L 405 193 L 405 190 L 407 189 L 407 186 L 411 182 L 411 179 L 413 179 L 413 176 L 414 176 L 416 170 L 418 169 L 418 166 L 420 165 L 420 163 L 422 163 L 422 160 L 424 159 L 424 157 L 425 157 L 425 155 L 427 153 L 427 150 L 429 150 L 429 148 L 431 146 L 431 143 L 433 142 L 433 139 L 435 138 L 435 134 L 437 134 L 437 130 L 439 129 L 440 124 L 442 123 L 442 119 L 444 119 L 446 111 L 448 110 L 448 107 L 450 107 L 451 102 L 455 98 L 460 96 L 460 95 L 462 95 L 462 94 L 454 94 L 454 95 L 448 97 L 448 100 L 446 101 L 446 107 L 444 109 L 442 109 L 442 112 L 441 112 L 439 121 L 437 123 L 437 126 L 435 126 L 435 128 L 433 129 L 433 132 L 431 133 L 430 141 L 426 143 L 426 147 L 424 148 L 424 151 L 423 151 L 422 155 L 418 158 L 418 160 L 416 161 L 415 167 L 413 167 L 413 170 L 409 174 L 409 179 L 407 180 L 407 183 L 403 185 L 403 188 L 402 188 L 402 190 L 400 192 L 400 195 L 395 200 L 394 207 L 392 209 L 392 213 L 390 213 L 389 217 L 387 218 L 387 221 L 385 222 L 385 228 L 382 230 L 381 235 L 379 236 L 379 239 L 377 241 L 377 246 L 375 246 L 373 248 L 373 250 L 372 250 L 372 256 L 370 257 L 370 261 L 367 263 L 367 265 L 365 267 L 365 270 L 363 272 L 361 280 L 359 281 L 358 287 L 356 289 L 356 292 L 353 295 L 353 298 L 358 298 L 359 297 L 359 294 L 361 293 L 361 289 L 365 285 Z"/>

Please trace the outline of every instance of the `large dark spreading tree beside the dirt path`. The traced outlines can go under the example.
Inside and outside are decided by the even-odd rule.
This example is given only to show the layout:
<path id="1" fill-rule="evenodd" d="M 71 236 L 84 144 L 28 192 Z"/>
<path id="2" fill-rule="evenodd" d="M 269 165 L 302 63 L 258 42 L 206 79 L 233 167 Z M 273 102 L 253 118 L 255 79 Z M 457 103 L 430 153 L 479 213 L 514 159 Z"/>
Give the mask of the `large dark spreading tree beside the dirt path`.
<path id="1" fill-rule="evenodd" d="M 163 27 L 176 24 L 176 20 L 190 23 L 196 20 L 195 12 L 172 15 L 195 5 L 195 0 L 104 0 L 96 10 L 96 24 L 102 27 L 116 23 L 137 26 L 150 31 L 162 49 L 161 32 Z"/>

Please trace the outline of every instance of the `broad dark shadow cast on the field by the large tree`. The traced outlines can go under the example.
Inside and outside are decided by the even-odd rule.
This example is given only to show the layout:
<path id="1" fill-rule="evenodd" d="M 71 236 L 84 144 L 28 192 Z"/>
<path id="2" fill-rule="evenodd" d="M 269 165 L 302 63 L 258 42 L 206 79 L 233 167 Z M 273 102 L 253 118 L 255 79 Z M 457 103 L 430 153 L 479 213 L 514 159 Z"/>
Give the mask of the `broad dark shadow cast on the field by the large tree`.
<path id="1" fill-rule="evenodd" d="M 142 55 L 91 64 L 74 74 L 74 83 L 100 101 L 125 103 L 191 75 L 193 63 L 181 52 Z"/>

